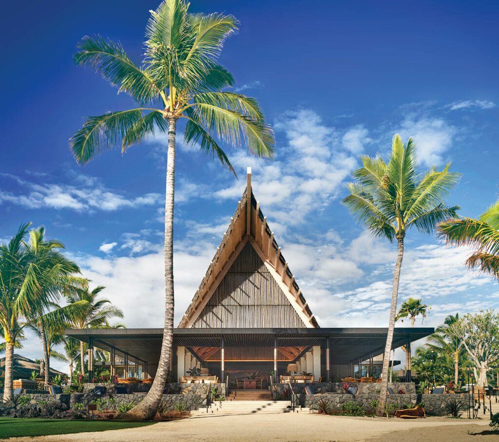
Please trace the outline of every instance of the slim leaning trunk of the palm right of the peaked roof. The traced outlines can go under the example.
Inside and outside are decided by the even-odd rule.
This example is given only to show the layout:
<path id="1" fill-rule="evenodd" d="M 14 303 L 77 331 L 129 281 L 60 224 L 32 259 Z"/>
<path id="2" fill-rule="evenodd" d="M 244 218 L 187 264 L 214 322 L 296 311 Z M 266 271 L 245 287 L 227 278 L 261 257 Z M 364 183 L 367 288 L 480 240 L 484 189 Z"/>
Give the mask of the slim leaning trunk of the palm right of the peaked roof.
<path id="1" fill-rule="evenodd" d="M 388 395 L 388 365 L 390 364 L 390 351 L 393 342 L 393 329 L 395 328 L 395 314 L 397 311 L 397 297 L 399 293 L 400 269 L 402 267 L 402 258 L 404 257 L 404 237 L 400 236 L 398 240 L 398 255 L 393 272 L 393 287 L 392 287 L 392 304 L 390 307 L 390 322 L 388 324 L 388 334 L 386 336 L 385 354 L 383 356 L 383 370 L 381 372 L 381 392 L 379 395 L 378 407 L 376 415 L 383 416 L 383 410 L 386 404 Z M 393 371 L 393 367 L 392 367 Z"/>

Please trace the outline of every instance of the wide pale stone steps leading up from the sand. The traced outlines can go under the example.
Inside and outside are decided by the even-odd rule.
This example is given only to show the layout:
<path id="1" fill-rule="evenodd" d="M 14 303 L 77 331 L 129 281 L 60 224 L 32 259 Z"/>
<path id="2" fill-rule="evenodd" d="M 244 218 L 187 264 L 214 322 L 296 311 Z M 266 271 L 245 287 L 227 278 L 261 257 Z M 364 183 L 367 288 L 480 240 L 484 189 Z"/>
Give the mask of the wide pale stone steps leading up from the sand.
<path id="1" fill-rule="evenodd" d="M 292 413 L 291 401 L 217 401 L 206 408 L 191 411 L 191 416 L 203 415 L 250 415 L 270 413 Z M 295 413 L 308 413 L 308 408 L 296 407 Z"/>

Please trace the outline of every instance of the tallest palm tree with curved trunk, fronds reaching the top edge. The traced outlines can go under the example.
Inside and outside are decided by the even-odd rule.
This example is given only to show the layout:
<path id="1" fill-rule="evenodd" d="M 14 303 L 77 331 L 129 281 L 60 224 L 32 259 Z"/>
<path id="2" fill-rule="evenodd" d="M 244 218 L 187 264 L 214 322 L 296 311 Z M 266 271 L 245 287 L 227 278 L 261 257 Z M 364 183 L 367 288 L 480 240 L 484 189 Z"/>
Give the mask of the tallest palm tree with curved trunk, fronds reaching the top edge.
<path id="1" fill-rule="evenodd" d="M 234 77 L 217 58 L 238 21 L 221 13 L 192 14 L 185 0 L 163 1 L 146 28 L 145 58 L 130 60 L 119 44 L 99 36 L 84 37 L 74 59 L 90 66 L 118 92 L 127 93 L 136 108 L 89 117 L 70 146 L 76 161 L 85 164 L 103 149 L 121 142 L 121 150 L 168 133 L 165 201 L 165 322 L 161 356 L 153 385 L 130 413 L 151 419 L 161 401 L 168 375 L 173 339 L 173 213 L 177 121 L 186 121 L 184 142 L 218 158 L 234 171 L 215 138 L 235 147 L 245 143 L 251 154 L 273 156 L 273 133 L 254 98 L 224 90 Z"/>

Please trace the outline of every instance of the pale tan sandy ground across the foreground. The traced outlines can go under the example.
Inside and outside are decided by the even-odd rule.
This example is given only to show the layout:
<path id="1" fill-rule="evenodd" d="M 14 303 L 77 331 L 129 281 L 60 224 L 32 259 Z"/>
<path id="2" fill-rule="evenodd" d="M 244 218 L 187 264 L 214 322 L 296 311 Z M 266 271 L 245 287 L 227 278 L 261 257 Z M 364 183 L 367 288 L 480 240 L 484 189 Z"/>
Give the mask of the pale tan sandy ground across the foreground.
<path id="1" fill-rule="evenodd" d="M 201 416 L 128 430 L 42 436 L 32 442 L 432 442 L 499 441 L 488 421 L 354 418 L 306 413 Z M 26 441 L 21 438 L 9 442 Z"/>

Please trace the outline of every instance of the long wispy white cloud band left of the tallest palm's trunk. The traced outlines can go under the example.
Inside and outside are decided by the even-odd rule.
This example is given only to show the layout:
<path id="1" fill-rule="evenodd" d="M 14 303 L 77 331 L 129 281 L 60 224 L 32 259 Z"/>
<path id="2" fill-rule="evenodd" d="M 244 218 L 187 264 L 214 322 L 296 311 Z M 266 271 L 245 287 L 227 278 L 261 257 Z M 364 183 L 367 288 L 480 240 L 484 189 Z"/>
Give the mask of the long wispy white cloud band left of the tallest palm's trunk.
<path id="1" fill-rule="evenodd" d="M 98 180 L 86 175 L 79 175 L 81 186 L 69 184 L 44 183 L 37 184 L 15 179 L 19 184 L 28 189 L 25 194 L 14 194 L 0 190 L 0 204 L 10 202 L 27 208 L 50 207 L 54 209 L 104 210 L 113 211 L 123 208 L 135 208 L 143 205 L 153 205 L 162 200 L 158 193 L 147 193 L 135 198 L 127 198 L 117 192 L 107 189 Z"/>

